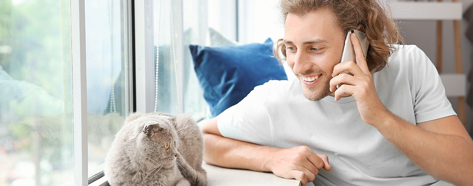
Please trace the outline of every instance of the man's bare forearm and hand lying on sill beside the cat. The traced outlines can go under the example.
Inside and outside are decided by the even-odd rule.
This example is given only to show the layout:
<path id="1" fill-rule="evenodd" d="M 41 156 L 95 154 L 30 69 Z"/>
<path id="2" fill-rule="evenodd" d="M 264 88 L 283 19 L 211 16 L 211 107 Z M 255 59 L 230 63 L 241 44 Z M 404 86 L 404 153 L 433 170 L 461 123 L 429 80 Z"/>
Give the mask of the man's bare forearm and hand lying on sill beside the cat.
<path id="1" fill-rule="evenodd" d="M 204 161 L 208 164 L 272 172 L 278 177 L 300 180 L 303 186 L 314 181 L 319 170 L 332 170 L 326 155 L 316 154 L 307 146 L 281 149 L 225 138 L 217 127 L 217 118 L 201 126 Z"/>

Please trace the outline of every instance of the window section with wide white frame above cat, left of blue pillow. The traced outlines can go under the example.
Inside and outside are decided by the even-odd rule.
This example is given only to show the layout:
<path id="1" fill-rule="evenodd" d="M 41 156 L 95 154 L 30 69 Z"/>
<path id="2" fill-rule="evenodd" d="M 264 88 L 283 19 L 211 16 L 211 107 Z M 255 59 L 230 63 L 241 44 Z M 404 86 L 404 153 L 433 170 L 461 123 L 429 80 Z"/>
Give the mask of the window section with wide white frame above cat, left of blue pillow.
<path id="1" fill-rule="evenodd" d="M 201 44 L 199 37 L 205 38 L 207 31 L 206 28 L 202 30 L 199 27 L 199 23 L 205 19 L 196 16 L 203 13 L 203 1 L 205 0 L 135 2 L 138 112 L 154 111 L 155 68 L 158 61 L 156 111 L 174 115 L 186 113 L 197 121 L 205 118 L 206 104 L 189 52 L 189 44 Z M 153 9 L 147 9 L 149 6 Z M 149 22 L 153 23 L 152 26 L 147 25 Z M 203 41 L 205 42 L 205 39 Z"/>

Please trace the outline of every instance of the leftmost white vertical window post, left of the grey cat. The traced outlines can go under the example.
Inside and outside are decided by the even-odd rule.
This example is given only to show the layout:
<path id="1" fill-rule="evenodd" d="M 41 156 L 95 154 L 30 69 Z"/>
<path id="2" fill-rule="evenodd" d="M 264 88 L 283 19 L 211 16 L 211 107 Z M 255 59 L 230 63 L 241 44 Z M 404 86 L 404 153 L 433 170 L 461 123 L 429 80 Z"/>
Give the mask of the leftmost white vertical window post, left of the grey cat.
<path id="1" fill-rule="evenodd" d="M 84 0 L 71 0 L 71 28 L 74 182 L 76 186 L 87 186 L 87 69 Z"/>

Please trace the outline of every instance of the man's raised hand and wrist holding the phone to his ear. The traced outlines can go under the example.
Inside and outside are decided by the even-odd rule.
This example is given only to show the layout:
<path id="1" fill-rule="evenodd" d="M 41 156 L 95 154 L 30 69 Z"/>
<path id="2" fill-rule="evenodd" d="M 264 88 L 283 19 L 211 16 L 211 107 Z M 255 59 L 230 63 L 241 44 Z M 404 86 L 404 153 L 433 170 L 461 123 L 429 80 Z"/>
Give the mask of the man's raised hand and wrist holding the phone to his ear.
<path id="1" fill-rule="evenodd" d="M 332 80 L 330 80 L 330 91 L 335 91 L 335 100 L 340 100 L 342 96 L 352 95 L 356 100 L 361 119 L 367 124 L 373 125 L 380 123 L 380 115 L 388 114 L 389 111 L 384 108 L 378 98 L 374 88 L 373 77 L 369 71 L 366 59 L 361 49 L 361 44 L 355 33 L 351 34 L 353 47 L 355 49 L 356 63 L 347 61 L 335 65 Z M 346 73 L 348 70 L 353 75 Z M 340 74 L 340 75 L 339 75 Z M 336 85 L 343 83 L 338 89 Z"/>

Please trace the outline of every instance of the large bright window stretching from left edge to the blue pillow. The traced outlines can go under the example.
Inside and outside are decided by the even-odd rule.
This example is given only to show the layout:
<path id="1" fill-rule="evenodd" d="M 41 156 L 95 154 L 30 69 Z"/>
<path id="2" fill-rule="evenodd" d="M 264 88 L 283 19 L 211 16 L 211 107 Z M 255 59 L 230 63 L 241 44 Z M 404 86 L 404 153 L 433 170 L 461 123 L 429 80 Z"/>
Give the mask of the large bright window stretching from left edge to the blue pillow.
<path id="1" fill-rule="evenodd" d="M 73 185 L 74 180 L 103 171 L 107 152 L 125 116 L 134 107 L 139 112 L 153 111 L 149 105 L 154 106 L 156 56 L 157 111 L 186 113 L 196 120 L 205 117 L 206 104 L 188 45 L 205 44 L 202 36 L 205 38 L 207 28 L 199 22 L 206 18 L 199 17 L 205 14 L 206 10 L 200 7 L 206 0 L 162 1 L 159 29 L 154 21 L 154 29 L 147 35 L 144 24 L 137 19 L 147 16 L 158 20 L 160 1 L 145 1 L 150 2 L 154 2 L 151 11 L 144 10 L 147 4 L 140 4 L 142 1 L 131 0 L 0 1 L 1 186 Z M 85 6 L 80 7 L 80 3 Z M 85 23 L 73 24 L 82 20 L 77 18 L 81 8 Z M 131 30 L 132 10 L 136 12 L 135 30 Z M 84 27 L 84 35 L 75 32 Z M 145 45 L 138 41 L 140 35 L 153 42 Z M 75 38 L 85 39 L 85 50 L 73 43 Z M 136 45 L 135 51 L 132 44 Z M 141 60 L 139 47 L 145 47 L 145 56 L 151 58 Z M 73 53 L 77 56 L 80 52 L 85 52 L 87 68 L 77 74 L 76 64 L 83 61 L 77 61 Z M 137 53 L 136 65 L 133 52 Z M 142 74 L 141 64 L 151 73 Z M 73 84 L 77 76 L 87 78 L 87 91 L 80 91 L 87 97 L 87 110 L 73 105 L 78 96 Z M 140 76 L 145 76 L 145 80 L 140 81 Z M 145 110 L 139 107 L 143 102 Z M 85 113 L 87 121 L 77 123 L 77 113 Z M 84 134 L 74 136 L 76 127 L 84 124 L 88 126 Z M 87 152 L 75 151 L 74 145 L 85 137 L 87 144 L 82 145 L 86 145 Z M 75 165 L 75 156 L 84 155 L 85 162 Z M 77 167 L 84 168 L 83 165 L 87 165 L 87 174 L 83 170 L 77 174 L 81 169 Z"/>

